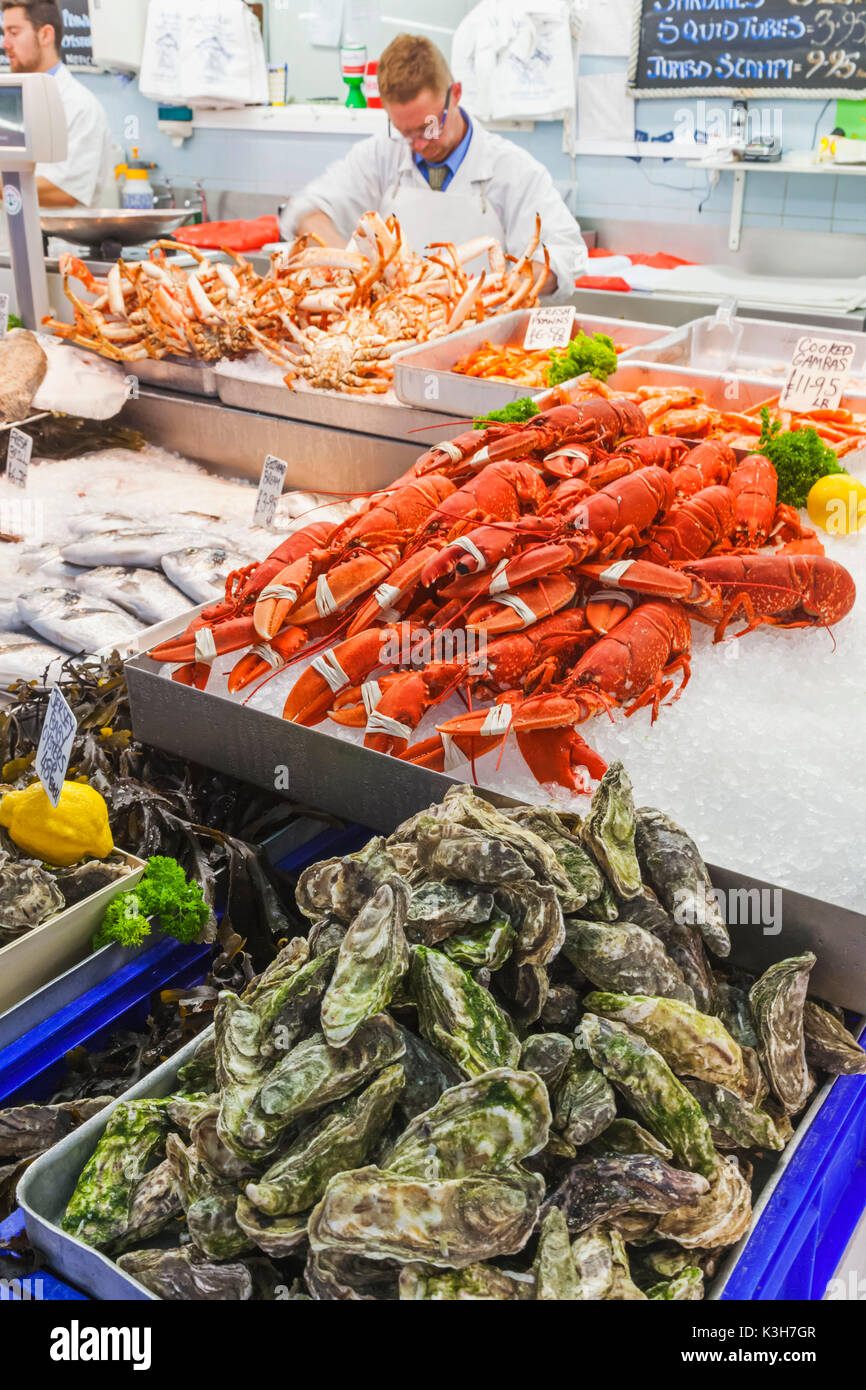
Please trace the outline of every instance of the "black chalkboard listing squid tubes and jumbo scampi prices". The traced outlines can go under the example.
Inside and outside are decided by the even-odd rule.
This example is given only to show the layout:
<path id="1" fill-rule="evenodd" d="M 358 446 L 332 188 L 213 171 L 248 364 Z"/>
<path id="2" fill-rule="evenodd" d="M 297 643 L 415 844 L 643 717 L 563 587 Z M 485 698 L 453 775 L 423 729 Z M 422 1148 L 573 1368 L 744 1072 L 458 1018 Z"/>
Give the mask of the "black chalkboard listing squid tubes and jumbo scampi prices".
<path id="1" fill-rule="evenodd" d="M 628 88 L 866 97 L 866 0 L 638 0 Z"/>

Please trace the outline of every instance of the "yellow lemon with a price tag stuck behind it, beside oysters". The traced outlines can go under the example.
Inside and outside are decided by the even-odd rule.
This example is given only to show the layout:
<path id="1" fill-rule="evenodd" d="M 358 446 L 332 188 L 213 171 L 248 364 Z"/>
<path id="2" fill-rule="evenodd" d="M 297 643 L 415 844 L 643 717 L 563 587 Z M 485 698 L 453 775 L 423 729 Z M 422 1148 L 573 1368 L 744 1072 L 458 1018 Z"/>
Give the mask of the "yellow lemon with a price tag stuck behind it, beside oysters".
<path id="1" fill-rule="evenodd" d="M 81 783 L 63 784 L 57 809 L 42 783 L 7 792 L 0 801 L 0 826 L 26 855 L 60 869 L 86 856 L 106 859 L 114 849 L 104 798 Z"/>

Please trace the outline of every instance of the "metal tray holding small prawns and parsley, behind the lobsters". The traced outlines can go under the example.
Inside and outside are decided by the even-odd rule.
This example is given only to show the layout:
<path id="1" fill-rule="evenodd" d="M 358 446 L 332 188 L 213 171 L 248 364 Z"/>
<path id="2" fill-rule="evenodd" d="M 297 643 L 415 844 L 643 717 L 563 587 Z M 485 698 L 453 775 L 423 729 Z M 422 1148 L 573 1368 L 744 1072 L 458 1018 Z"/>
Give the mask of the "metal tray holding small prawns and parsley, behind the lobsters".
<path id="1" fill-rule="evenodd" d="M 488 410 L 499 410 L 500 406 L 507 406 L 510 400 L 520 400 L 521 396 L 544 395 L 549 389 L 548 386 L 485 381 L 481 377 L 463 377 L 452 370 L 455 363 L 475 352 L 485 342 L 520 348 L 525 338 L 530 314 L 530 309 L 516 309 L 512 314 L 488 318 L 484 324 L 473 324 L 471 328 L 461 328 L 460 332 L 449 334 L 448 338 L 436 338 L 434 342 L 421 343 L 420 348 L 409 348 L 406 352 L 398 353 L 393 359 L 393 389 L 407 406 L 430 407 L 431 400 L 435 400 L 439 410 L 466 420 L 487 414 Z M 581 328 L 588 334 L 607 334 L 614 342 L 627 341 L 628 348 L 621 353 L 620 361 L 641 356 L 638 349 L 644 349 L 666 335 L 666 329 L 660 324 L 639 324 L 628 318 L 599 318 L 594 314 L 581 314 L 578 310 L 573 332 L 577 334 Z"/>

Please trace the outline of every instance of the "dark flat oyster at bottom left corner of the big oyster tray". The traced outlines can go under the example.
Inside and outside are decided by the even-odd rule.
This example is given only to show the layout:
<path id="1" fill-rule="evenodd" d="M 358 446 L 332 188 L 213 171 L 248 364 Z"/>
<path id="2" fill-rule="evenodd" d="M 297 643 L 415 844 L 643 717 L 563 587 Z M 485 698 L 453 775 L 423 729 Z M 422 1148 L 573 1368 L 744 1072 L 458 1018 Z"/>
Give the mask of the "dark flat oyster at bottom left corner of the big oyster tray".
<path id="1" fill-rule="evenodd" d="M 249 1302 L 272 1298 L 281 1276 L 267 1259 L 217 1265 L 195 1245 L 182 1250 L 140 1250 L 121 1255 L 118 1265 L 158 1298 L 170 1301 L 218 1300 Z"/>

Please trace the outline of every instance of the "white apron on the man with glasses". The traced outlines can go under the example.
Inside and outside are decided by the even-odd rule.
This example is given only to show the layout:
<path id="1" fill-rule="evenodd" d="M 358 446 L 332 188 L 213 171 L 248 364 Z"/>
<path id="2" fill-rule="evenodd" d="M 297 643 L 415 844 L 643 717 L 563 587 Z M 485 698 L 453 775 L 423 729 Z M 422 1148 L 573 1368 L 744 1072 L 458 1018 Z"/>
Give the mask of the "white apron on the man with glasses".
<path id="1" fill-rule="evenodd" d="M 410 183 L 411 171 L 400 170 L 396 185 L 392 185 L 379 203 L 381 217 L 396 217 L 406 243 L 421 253 L 431 242 L 470 242 L 475 236 L 495 236 L 505 246 L 505 227 L 487 196 L 487 179 L 470 183 L 471 193 L 455 193 L 452 185 L 443 192 L 432 188 L 416 188 Z M 464 270 L 478 275 L 489 268 L 487 253 L 467 261 Z"/>

